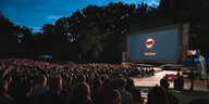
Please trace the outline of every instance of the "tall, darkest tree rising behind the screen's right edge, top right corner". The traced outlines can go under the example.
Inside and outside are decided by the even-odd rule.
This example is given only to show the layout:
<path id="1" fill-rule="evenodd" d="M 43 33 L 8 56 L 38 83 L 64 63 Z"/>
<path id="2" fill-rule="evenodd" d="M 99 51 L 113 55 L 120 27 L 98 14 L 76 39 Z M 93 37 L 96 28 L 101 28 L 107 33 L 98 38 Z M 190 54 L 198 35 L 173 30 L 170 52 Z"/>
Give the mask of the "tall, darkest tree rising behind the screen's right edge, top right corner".
<path id="1" fill-rule="evenodd" d="M 185 24 L 189 23 L 189 49 L 200 49 L 201 54 L 209 56 L 207 51 L 207 46 L 209 42 L 209 36 L 207 35 L 209 30 L 208 25 L 208 15 L 209 15 L 209 1 L 207 0 L 169 0 L 172 1 L 172 10 L 167 6 L 165 1 L 161 0 L 164 3 L 161 3 L 159 9 L 164 14 L 172 15 L 175 24 Z"/>

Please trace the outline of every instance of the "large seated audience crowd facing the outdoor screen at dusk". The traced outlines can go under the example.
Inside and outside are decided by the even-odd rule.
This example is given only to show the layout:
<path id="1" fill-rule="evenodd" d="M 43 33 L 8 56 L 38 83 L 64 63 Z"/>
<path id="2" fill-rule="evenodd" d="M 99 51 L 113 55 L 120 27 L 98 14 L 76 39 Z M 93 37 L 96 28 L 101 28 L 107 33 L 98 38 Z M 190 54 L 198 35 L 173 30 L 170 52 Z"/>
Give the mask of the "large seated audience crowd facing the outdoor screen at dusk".
<path id="1" fill-rule="evenodd" d="M 111 64 L 51 64 L 26 58 L 0 61 L 0 104 L 144 104 L 130 77 L 153 70 Z M 167 80 L 147 104 L 177 104 Z"/>

